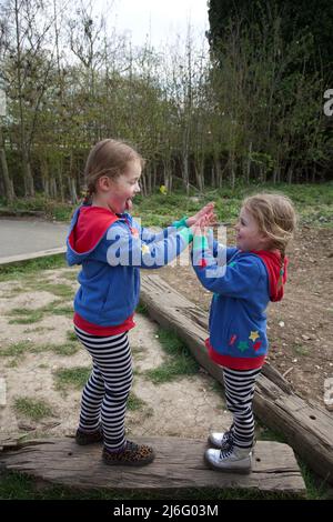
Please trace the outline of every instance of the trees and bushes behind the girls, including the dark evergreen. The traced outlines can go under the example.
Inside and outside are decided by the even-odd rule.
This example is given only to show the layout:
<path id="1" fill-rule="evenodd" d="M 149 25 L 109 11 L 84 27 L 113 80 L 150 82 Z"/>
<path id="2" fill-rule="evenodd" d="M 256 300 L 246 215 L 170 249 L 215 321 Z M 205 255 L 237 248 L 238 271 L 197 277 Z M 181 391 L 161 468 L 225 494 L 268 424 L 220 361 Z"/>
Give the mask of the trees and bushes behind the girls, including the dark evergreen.
<path id="1" fill-rule="evenodd" d="M 10 182 L 1 183 L 7 208 L 68 221 L 89 150 L 107 137 L 128 140 L 148 159 L 143 192 L 163 185 L 161 197 L 238 180 L 331 178 L 333 135 L 322 110 L 333 70 L 330 0 L 211 0 L 211 60 L 194 39 L 165 52 L 147 44 L 133 53 L 124 43 L 119 53 L 117 38 L 101 39 L 83 8 L 73 10 L 70 51 L 59 38 L 52 54 L 44 40 L 54 19 L 43 2 L 32 19 L 27 6 L 19 20 L 0 7 L 3 150 L 16 195 L 26 197 L 12 201 Z M 17 39 L 17 30 L 31 38 Z M 152 212 L 149 220 L 163 225 L 169 217 Z"/>

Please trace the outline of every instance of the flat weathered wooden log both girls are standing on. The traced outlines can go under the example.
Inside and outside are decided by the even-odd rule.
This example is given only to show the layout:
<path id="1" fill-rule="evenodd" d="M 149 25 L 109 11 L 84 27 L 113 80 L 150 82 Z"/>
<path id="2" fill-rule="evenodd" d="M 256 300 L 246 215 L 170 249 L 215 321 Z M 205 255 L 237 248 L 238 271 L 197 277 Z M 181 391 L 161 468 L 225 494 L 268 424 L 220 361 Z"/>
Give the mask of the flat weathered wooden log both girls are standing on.
<path id="1" fill-rule="evenodd" d="M 154 461 L 142 468 L 107 465 L 102 444 L 80 446 L 73 439 L 29 441 L 0 453 L 0 468 L 27 473 L 46 482 L 71 488 L 174 491 L 180 489 L 250 489 L 304 495 L 306 489 L 293 451 L 286 444 L 260 441 L 249 475 L 208 469 L 206 443 L 195 439 L 137 438 L 155 450 Z"/>

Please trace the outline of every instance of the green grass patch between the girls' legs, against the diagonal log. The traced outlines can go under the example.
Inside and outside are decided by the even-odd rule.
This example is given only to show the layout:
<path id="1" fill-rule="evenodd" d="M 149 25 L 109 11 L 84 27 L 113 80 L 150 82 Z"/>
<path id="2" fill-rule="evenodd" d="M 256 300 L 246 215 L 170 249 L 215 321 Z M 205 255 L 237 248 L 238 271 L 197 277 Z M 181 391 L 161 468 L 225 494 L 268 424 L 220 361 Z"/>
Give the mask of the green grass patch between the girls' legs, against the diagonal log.
<path id="1" fill-rule="evenodd" d="M 158 335 L 168 358 L 160 367 L 144 372 L 154 384 L 170 382 L 180 377 L 193 375 L 199 372 L 199 363 L 174 332 L 160 328 Z"/>

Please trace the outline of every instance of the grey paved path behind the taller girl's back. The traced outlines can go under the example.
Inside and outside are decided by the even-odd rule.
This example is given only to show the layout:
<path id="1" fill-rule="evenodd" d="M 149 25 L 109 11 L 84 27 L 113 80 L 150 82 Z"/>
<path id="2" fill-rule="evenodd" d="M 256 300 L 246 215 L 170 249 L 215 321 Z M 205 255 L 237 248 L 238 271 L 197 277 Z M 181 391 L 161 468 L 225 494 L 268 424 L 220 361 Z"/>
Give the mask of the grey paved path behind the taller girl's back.
<path id="1" fill-rule="evenodd" d="M 64 247 L 69 225 L 40 219 L 0 219 L 0 259 Z"/>

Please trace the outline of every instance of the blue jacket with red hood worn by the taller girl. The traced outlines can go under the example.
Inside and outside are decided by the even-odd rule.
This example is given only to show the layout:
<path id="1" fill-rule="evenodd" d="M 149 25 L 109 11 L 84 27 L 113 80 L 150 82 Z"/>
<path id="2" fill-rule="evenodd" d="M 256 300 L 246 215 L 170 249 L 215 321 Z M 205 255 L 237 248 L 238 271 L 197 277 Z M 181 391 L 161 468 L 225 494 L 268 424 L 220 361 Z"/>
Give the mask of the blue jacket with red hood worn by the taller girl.
<path id="1" fill-rule="evenodd" d="M 190 240 L 185 228 L 152 233 L 128 213 L 115 215 L 108 209 L 81 205 L 67 238 L 68 264 L 82 267 L 75 312 L 101 327 L 122 324 L 139 302 L 139 269 L 165 265 Z"/>

